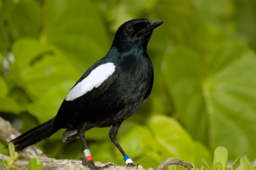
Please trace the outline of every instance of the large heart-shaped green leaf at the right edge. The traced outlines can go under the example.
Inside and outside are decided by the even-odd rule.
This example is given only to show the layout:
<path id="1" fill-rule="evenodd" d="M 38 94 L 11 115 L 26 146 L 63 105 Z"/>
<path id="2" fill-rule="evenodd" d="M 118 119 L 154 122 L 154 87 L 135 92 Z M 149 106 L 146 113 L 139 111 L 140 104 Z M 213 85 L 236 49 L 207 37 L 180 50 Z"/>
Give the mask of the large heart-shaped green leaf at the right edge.
<path id="1" fill-rule="evenodd" d="M 255 157 L 255 65 L 255 54 L 234 42 L 215 48 L 208 66 L 184 47 L 166 50 L 163 60 L 180 120 L 194 138 L 205 136 L 211 149 L 226 147 L 231 159 L 245 151 Z"/>

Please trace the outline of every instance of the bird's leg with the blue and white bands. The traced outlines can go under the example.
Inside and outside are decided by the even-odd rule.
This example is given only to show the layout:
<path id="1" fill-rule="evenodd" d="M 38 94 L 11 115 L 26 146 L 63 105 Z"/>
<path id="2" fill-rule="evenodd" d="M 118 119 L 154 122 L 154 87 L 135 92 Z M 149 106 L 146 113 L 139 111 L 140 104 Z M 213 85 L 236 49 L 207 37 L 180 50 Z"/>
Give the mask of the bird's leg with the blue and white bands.
<path id="1" fill-rule="evenodd" d="M 127 164 L 127 167 L 135 167 L 135 165 L 133 164 L 133 161 L 130 159 L 130 157 L 128 155 L 126 155 L 126 153 L 123 151 L 123 148 L 119 145 L 118 141 L 116 141 L 116 136 L 117 136 L 117 132 L 119 132 L 120 125 L 121 125 L 121 123 L 113 125 L 111 127 L 111 129 L 109 131 L 109 138 L 114 143 L 116 148 L 118 148 L 120 150 L 121 154 L 123 155 L 123 160 Z"/>

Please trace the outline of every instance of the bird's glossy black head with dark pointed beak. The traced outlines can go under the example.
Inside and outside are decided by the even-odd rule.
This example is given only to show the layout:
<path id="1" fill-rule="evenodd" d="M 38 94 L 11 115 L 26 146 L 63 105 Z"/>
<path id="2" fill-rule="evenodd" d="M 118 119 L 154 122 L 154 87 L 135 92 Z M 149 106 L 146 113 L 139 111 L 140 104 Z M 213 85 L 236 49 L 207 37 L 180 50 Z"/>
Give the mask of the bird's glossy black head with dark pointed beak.
<path id="1" fill-rule="evenodd" d="M 153 30 L 161 24 L 163 24 L 161 20 L 150 22 L 146 18 L 124 22 L 116 31 L 112 47 L 129 50 L 137 46 L 146 50 Z"/>

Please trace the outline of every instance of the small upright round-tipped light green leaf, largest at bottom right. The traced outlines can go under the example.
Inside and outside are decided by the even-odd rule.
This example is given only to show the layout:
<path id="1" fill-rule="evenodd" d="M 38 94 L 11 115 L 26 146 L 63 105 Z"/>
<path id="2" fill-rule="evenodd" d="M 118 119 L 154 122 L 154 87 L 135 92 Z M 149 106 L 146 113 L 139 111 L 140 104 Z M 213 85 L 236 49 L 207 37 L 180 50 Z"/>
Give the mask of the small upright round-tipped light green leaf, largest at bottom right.
<path id="1" fill-rule="evenodd" d="M 214 151 L 213 164 L 215 170 L 226 170 L 227 169 L 228 152 L 227 149 L 219 146 Z M 217 164 L 217 165 L 216 165 Z M 220 169 L 221 168 L 221 169 Z"/>

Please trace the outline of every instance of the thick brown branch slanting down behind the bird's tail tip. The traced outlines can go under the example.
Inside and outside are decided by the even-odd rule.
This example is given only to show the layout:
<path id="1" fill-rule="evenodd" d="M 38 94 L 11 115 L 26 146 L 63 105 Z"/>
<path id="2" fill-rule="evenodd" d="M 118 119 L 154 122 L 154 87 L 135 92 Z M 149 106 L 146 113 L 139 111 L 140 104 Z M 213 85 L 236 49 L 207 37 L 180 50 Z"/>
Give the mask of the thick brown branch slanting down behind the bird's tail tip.
<path id="1" fill-rule="evenodd" d="M 9 141 L 15 139 L 16 137 L 20 136 L 20 132 L 14 129 L 10 122 L 7 122 L 3 118 L 0 117 L 0 139 L 4 141 L 4 143 L 8 143 Z M 26 160 L 29 160 L 32 157 L 36 157 L 39 159 L 47 158 L 46 155 L 42 153 L 41 150 L 36 148 L 36 146 L 29 146 L 22 151 L 18 151 L 19 155 Z"/>

